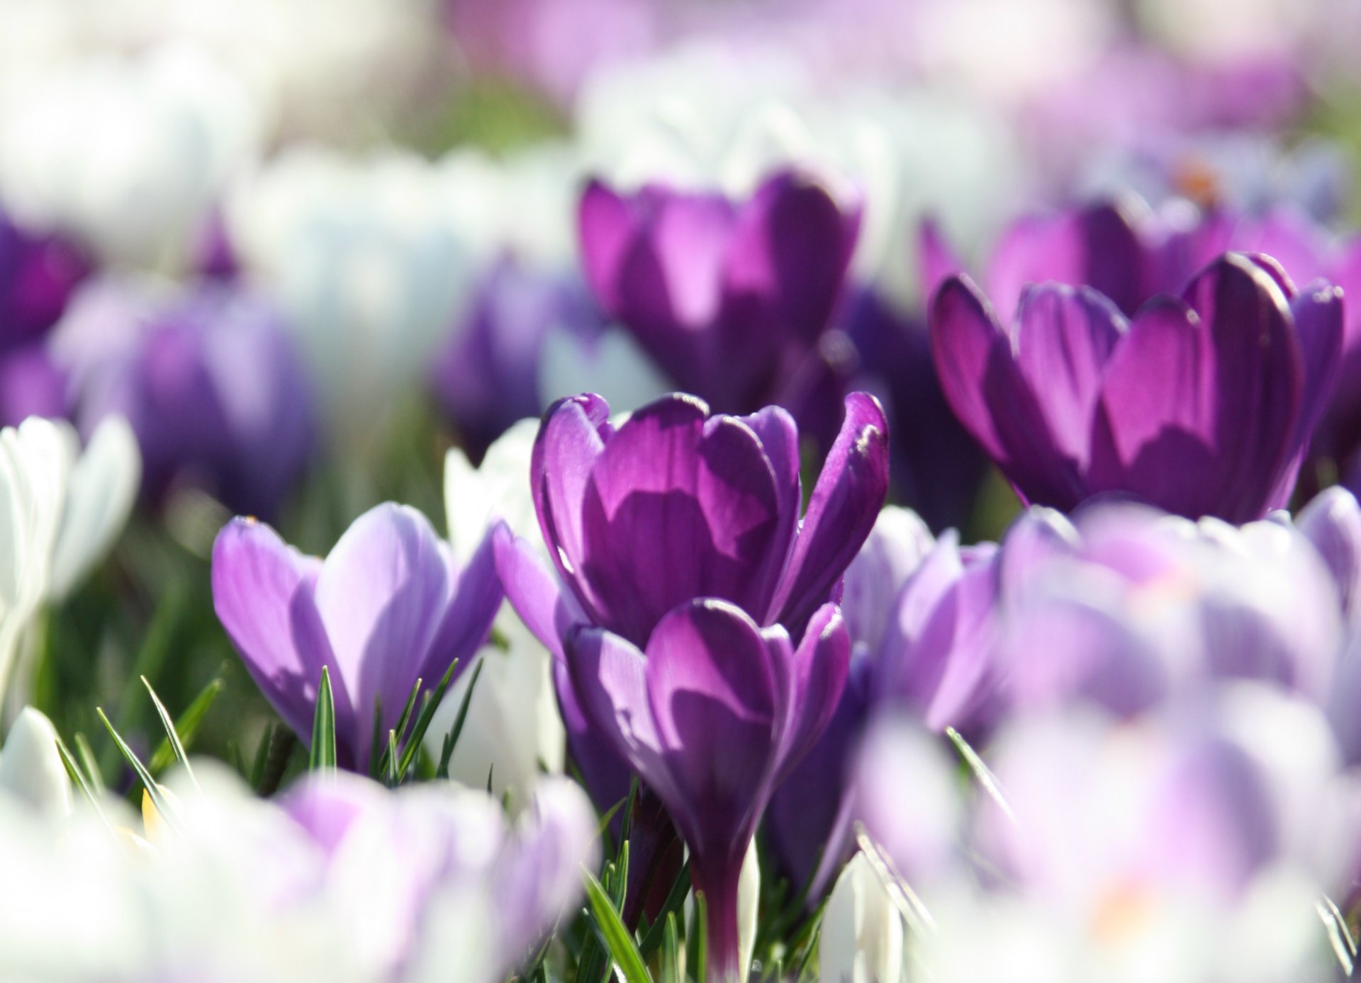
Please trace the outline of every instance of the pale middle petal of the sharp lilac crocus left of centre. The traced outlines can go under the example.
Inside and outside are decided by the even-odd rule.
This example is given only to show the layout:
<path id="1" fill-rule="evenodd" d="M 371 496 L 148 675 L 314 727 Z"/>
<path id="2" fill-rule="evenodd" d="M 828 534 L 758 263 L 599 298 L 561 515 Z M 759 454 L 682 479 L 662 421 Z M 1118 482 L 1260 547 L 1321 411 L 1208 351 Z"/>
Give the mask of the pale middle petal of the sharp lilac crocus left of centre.
<path id="1" fill-rule="evenodd" d="M 374 700 L 381 700 L 378 726 L 387 733 L 440 631 L 449 600 L 441 547 L 425 515 L 385 503 L 355 519 L 317 575 L 317 613 L 348 695 L 342 706 L 336 693 L 336 737 L 361 768 L 370 753 Z"/>

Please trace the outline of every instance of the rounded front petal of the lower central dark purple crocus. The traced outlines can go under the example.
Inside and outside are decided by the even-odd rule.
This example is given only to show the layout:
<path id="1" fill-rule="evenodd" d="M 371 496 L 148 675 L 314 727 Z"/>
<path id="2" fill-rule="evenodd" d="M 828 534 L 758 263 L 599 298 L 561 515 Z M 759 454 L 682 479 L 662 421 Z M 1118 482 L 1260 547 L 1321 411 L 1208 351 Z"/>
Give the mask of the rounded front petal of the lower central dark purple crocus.
<path id="1" fill-rule="evenodd" d="M 770 795 L 784 714 L 761 631 L 723 601 L 676 608 L 648 642 L 646 691 L 682 798 L 657 794 L 704 866 L 740 863 Z"/>

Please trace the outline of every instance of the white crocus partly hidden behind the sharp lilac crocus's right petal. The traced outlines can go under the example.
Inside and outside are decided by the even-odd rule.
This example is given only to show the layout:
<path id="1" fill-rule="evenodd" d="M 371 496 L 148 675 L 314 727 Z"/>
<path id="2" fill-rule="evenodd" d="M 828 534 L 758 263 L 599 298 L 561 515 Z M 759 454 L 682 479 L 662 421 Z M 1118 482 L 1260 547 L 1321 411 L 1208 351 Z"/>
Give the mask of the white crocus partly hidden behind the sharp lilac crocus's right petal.
<path id="1" fill-rule="evenodd" d="M 486 530 L 501 519 L 516 534 L 542 542 L 529 495 L 529 457 L 538 430 L 538 420 L 520 420 L 487 449 L 480 468 L 474 468 L 457 449 L 445 458 L 449 540 L 460 563 L 468 562 Z M 505 647 L 487 644 L 480 653 L 482 672 L 449 760 L 449 776 L 485 789 L 490 775 L 493 794 L 499 798 L 509 791 L 512 806 L 519 809 L 529 801 L 540 770 L 562 771 L 566 734 L 548 651 L 509 604 L 502 604 L 494 632 Z M 436 757 L 471 678 L 472 673 L 465 672 L 450 687 L 427 731 L 426 746 Z"/>

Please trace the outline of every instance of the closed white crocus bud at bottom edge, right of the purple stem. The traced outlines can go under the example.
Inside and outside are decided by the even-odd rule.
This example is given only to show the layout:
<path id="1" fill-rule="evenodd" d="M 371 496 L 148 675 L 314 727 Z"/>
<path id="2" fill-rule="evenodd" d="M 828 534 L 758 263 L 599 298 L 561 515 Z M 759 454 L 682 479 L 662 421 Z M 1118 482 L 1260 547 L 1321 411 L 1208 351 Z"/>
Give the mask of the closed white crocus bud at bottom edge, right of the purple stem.
<path id="1" fill-rule="evenodd" d="M 902 916 L 864 854 L 841 872 L 822 914 L 818 944 L 825 983 L 900 983 Z"/>

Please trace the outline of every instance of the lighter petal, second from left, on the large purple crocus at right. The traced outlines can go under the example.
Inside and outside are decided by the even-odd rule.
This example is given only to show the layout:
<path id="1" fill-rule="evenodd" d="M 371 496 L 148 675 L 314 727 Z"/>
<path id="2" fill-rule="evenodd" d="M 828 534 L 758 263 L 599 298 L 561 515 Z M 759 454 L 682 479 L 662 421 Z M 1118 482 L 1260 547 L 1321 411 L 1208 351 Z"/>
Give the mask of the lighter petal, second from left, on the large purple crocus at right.
<path id="1" fill-rule="evenodd" d="M 1079 287 L 1029 287 L 1017 310 L 1017 367 L 1040 397 L 1057 450 L 1087 461 L 1106 362 L 1127 329 L 1105 296 Z"/>

